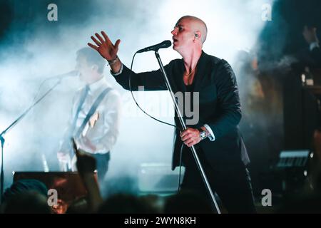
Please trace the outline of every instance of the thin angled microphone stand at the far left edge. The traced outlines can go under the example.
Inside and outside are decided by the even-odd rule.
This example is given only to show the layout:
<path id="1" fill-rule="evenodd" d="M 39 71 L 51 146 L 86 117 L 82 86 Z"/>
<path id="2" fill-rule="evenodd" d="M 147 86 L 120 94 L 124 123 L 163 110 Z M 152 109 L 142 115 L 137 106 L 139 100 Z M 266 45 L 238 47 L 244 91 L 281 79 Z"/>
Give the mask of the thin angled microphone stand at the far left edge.
<path id="1" fill-rule="evenodd" d="M 14 120 L 13 123 L 11 123 L 11 125 L 9 125 L 8 128 L 6 128 L 1 134 L 0 134 L 0 141 L 1 141 L 1 175 L 0 175 L 0 199 L 2 202 L 2 197 L 4 194 L 4 135 L 11 130 L 11 128 L 14 127 L 14 125 L 16 125 L 17 123 L 19 123 L 19 121 L 24 118 L 24 116 L 29 113 L 29 111 L 31 110 L 31 108 L 34 108 L 34 106 L 36 106 L 42 99 L 44 99 L 46 97 L 46 95 L 48 95 L 52 90 L 54 90 L 54 88 L 56 88 L 56 86 L 58 86 L 61 83 L 61 78 L 59 79 L 59 81 L 57 81 L 57 83 L 54 84 L 54 86 L 52 86 L 46 93 L 44 93 L 44 95 L 41 96 L 41 98 L 39 98 L 38 100 L 36 100 L 29 108 L 27 108 L 24 113 L 22 113 L 19 118 L 16 118 L 16 120 Z"/>

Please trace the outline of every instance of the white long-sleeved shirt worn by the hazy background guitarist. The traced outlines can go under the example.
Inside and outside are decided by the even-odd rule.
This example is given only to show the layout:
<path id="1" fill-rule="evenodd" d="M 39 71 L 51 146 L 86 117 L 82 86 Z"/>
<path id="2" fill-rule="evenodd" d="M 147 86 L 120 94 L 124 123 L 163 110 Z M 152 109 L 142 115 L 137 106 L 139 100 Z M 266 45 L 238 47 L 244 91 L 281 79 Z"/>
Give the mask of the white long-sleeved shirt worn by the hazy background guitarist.
<path id="1" fill-rule="evenodd" d="M 74 132 L 71 133 L 72 135 L 76 134 L 93 103 L 96 101 L 96 98 L 98 98 L 98 95 L 106 88 L 111 88 L 111 86 L 106 81 L 105 77 L 89 85 L 88 95 L 86 95 L 81 110 L 78 113 L 76 128 Z M 73 99 L 71 118 L 66 133 L 70 131 L 83 90 L 85 90 L 85 88 L 78 90 Z M 121 98 L 118 92 L 114 89 L 109 90 L 103 100 L 101 100 L 101 103 L 99 103 L 96 112 L 89 118 L 81 135 L 78 138 L 75 138 L 76 144 L 80 149 L 93 154 L 104 154 L 112 150 L 118 137 L 120 106 Z M 70 139 L 67 137 L 64 140 Z M 93 150 L 91 145 L 96 147 L 96 150 Z"/>

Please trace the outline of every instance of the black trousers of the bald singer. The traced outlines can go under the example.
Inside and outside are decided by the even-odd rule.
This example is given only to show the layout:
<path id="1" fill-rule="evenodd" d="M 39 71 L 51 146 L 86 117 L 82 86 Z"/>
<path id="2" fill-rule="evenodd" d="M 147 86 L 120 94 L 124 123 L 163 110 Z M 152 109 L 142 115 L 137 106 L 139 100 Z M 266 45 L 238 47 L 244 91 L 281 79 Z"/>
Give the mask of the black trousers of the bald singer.
<path id="1" fill-rule="evenodd" d="M 218 194 L 229 213 L 256 213 L 250 174 L 245 166 L 212 167 L 205 160 L 203 152 L 200 150 L 198 150 L 198 157 L 213 193 L 216 192 Z M 185 175 L 180 185 L 180 190 L 199 193 L 206 196 L 206 199 L 213 204 L 192 152 L 186 147 L 183 150 L 183 164 L 185 166 Z"/>

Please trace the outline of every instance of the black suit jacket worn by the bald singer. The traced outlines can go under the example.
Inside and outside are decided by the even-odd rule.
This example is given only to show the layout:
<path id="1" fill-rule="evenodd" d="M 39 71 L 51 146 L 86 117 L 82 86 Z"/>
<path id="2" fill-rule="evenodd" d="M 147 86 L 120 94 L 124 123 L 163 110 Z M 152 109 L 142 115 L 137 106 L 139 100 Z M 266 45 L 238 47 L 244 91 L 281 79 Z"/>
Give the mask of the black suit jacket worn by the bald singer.
<path id="1" fill-rule="evenodd" d="M 170 61 L 165 66 L 165 71 L 173 92 L 186 92 L 183 82 L 183 59 Z M 115 76 L 116 81 L 126 90 L 129 90 L 130 73 L 131 71 L 123 66 L 123 72 Z M 138 86 L 144 86 L 144 90 L 167 90 L 160 70 L 132 72 L 131 89 L 138 90 Z M 199 92 L 199 121 L 188 127 L 200 128 L 208 124 L 215 135 L 214 141 L 206 138 L 197 145 L 203 150 L 205 159 L 213 167 L 247 165 L 250 160 L 238 130 L 241 119 L 238 87 L 235 74 L 228 62 L 202 51 L 193 81 L 193 91 Z M 175 123 L 180 126 L 177 115 Z M 175 130 L 173 169 L 178 165 L 182 143 L 179 130 Z"/>

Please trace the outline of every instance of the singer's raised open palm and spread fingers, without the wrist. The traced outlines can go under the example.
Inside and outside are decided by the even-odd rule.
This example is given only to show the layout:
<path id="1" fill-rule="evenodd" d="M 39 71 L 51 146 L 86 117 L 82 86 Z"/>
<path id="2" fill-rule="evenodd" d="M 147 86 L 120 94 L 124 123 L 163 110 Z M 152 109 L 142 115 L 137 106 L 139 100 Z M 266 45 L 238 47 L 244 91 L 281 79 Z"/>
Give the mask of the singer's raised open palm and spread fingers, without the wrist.
<path id="1" fill-rule="evenodd" d="M 98 53 L 100 53 L 101 56 L 103 56 L 103 58 L 106 58 L 107 61 L 115 59 L 118 53 L 118 46 L 119 43 L 121 43 L 121 40 L 118 39 L 115 45 L 113 45 L 113 43 L 111 43 L 111 40 L 108 38 L 107 34 L 104 31 L 101 31 L 101 35 L 103 35 L 104 39 L 98 33 L 95 33 L 95 35 L 98 38 L 98 40 L 94 36 L 91 36 L 91 39 L 93 40 L 93 42 L 96 43 L 97 46 L 93 45 L 92 43 L 88 43 L 88 46 L 98 51 Z"/>

